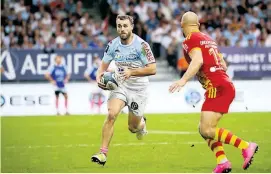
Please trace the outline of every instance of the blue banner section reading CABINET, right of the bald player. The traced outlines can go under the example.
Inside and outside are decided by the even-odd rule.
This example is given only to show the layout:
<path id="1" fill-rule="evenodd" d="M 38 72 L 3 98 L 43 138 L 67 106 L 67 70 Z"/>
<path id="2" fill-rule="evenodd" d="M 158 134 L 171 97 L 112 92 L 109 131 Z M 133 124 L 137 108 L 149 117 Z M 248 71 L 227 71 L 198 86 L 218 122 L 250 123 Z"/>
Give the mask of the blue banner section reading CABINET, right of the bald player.
<path id="1" fill-rule="evenodd" d="M 234 78 L 260 79 L 271 77 L 271 48 L 220 48 L 234 71 Z"/>

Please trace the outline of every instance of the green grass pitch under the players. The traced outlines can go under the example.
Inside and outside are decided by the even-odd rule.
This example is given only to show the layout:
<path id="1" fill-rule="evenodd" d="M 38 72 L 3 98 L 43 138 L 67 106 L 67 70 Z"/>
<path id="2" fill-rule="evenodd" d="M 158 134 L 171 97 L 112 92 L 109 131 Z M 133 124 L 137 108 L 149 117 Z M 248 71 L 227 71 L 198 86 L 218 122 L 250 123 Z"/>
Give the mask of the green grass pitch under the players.
<path id="1" fill-rule="evenodd" d="M 216 160 L 198 134 L 199 114 L 148 114 L 149 134 L 136 139 L 119 115 L 107 163 L 90 162 L 98 152 L 105 116 L 1 118 L 1 172 L 212 172 Z M 259 144 L 254 163 L 242 169 L 241 151 L 225 145 L 232 172 L 271 172 L 271 113 L 231 113 L 219 127 Z M 194 145 L 194 146 L 193 146 Z"/>

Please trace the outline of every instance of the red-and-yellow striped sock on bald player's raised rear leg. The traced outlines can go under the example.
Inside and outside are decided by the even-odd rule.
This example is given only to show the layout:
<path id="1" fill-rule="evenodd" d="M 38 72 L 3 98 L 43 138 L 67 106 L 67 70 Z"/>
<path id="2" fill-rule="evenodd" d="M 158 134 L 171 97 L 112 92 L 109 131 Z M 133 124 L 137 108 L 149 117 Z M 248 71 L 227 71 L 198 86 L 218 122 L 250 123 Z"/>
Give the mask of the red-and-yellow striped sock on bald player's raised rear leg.
<path id="1" fill-rule="evenodd" d="M 230 131 L 223 128 L 216 128 L 214 140 L 225 144 L 231 144 L 239 149 L 246 149 L 249 145 L 247 141 L 242 140 L 236 135 L 233 135 Z"/>

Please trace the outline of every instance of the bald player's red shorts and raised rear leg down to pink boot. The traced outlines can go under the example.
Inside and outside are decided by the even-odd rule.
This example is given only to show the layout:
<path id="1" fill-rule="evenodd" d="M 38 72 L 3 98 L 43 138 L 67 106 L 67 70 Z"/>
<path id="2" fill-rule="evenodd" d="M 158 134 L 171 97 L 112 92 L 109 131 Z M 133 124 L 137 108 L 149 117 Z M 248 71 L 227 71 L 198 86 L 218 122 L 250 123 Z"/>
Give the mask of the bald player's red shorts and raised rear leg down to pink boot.
<path id="1" fill-rule="evenodd" d="M 223 114 L 228 113 L 229 107 L 235 98 L 235 88 L 232 83 L 225 83 L 222 86 L 209 88 L 205 93 L 206 100 L 202 105 L 200 121 L 200 133 L 206 139 L 213 139 L 217 142 L 231 144 L 242 150 L 244 164 L 247 169 L 254 154 L 258 150 L 256 143 L 248 143 L 237 137 L 230 131 L 218 128 L 217 124 Z"/>

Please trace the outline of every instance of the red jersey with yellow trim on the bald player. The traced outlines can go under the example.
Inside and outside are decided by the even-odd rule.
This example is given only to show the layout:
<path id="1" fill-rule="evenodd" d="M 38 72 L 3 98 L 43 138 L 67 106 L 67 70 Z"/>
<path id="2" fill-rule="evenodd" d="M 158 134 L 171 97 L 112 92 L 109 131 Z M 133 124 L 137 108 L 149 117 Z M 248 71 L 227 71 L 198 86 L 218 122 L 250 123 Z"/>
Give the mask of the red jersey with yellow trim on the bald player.
<path id="1" fill-rule="evenodd" d="M 192 32 L 186 37 L 183 42 L 183 52 L 188 63 L 191 62 L 189 53 L 194 49 L 200 49 L 202 52 L 203 65 L 197 73 L 197 77 L 204 89 L 215 88 L 230 82 L 222 67 L 223 57 L 211 37 L 201 32 Z"/>

